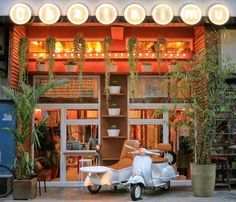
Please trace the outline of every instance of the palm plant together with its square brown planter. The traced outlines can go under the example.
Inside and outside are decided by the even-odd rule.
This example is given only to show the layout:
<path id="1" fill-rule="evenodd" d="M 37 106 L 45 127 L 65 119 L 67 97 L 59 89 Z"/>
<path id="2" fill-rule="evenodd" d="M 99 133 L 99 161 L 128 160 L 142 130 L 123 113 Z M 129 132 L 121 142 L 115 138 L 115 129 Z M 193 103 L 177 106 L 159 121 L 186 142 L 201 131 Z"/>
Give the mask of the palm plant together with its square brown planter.
<path id="1" fill-rule="evenodd" d="M 36 88 L 25 81 L 19 81 L 19 89 L 1 86 L 5 94 L 14 102 L 17 119 L 17 129 L 5 128 L 14 136 L 17 144 L 15 156 L 15 172 L 17 179 L 13 181 L 14 199 L 32 199 L 37 194 L 37 179 L 34 175 L 34 160 L 32 159 L 32 145 L 38 145 L 38 127 L 46 120 L 42 120 L 38 126 L 33 127 L 34 110 L 39 98 L 55 86 L 63 85 L 65 81 L 49 81 L 45 85 Z"/>

